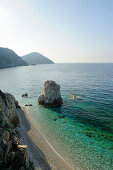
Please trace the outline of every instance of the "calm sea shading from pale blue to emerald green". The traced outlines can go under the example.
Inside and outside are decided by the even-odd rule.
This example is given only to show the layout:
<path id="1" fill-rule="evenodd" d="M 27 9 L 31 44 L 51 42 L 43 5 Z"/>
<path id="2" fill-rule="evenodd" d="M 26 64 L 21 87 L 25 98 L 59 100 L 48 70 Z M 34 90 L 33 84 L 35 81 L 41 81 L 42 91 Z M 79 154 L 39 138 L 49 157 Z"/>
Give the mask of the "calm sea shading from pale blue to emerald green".
<path id="1" fill-rule="evenodd" d="M 37 104 L 46 80 L 60 84 L 62 107 Z M 20 105 L 33 105 L 27 107 L 33 123 L 73 168 L 113 169 L 113 64 L 0 69 L 0 89 L 13 94 Z M 22 98 L 23 93 L 29 97 Z"/>

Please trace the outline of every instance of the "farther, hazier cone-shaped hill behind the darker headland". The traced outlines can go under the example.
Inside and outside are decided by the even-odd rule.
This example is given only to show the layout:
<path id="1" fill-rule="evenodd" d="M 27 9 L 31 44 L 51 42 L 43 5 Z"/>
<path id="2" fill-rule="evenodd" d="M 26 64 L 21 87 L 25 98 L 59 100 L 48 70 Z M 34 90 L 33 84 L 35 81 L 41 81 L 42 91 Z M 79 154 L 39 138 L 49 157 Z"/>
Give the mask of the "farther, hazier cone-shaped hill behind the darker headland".
<path id="1" fill-rule="evenodd" d="M 22 59 L 28 64 L 54 64 L 53 61 L 37 52 L 24 55 Z"/>

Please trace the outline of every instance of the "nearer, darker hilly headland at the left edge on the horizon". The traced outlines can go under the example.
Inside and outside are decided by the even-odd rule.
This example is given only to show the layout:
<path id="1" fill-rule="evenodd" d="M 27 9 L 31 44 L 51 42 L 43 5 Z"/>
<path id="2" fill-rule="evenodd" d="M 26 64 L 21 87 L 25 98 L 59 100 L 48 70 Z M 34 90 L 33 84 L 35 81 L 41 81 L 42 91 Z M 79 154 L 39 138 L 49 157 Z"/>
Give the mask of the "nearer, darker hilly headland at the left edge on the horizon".
<path id="1" fill-rule="evenodd" d="M 0 47 L 0 68 L 28 65 L 14 51 Z"/>

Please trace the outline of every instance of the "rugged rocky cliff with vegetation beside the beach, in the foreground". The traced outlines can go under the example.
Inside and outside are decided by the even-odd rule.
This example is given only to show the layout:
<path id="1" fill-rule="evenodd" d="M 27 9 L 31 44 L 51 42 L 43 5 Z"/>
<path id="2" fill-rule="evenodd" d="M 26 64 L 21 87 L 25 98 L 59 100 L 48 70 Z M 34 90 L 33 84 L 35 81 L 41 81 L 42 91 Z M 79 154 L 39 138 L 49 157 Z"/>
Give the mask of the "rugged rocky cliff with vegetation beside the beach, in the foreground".
<path id="1" fill-rule="evenodd" d="M 0 90 L 0 169 L 34 169 L 27 153 L 27 146 L 21 144 L 16 129 L 19 125 L 16 113 L 18 107 L 14 96 Z"/>

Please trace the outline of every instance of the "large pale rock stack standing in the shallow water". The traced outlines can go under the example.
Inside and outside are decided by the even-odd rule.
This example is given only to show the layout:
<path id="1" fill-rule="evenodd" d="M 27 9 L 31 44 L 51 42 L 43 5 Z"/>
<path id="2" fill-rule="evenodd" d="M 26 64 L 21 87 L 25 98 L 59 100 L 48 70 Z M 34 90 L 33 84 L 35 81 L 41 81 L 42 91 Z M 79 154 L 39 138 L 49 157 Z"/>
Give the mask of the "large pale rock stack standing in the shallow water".
<path id="1" fill-rule="evenodd" d="M 63 100 L 60 94 L 60 85 L 55 81 L 47 80 L 44 83 L 42 94 L 38 96 L 38 104 L 46 107 L 57 107 L 61 106 L 62 103 Z"/>

